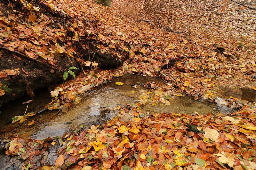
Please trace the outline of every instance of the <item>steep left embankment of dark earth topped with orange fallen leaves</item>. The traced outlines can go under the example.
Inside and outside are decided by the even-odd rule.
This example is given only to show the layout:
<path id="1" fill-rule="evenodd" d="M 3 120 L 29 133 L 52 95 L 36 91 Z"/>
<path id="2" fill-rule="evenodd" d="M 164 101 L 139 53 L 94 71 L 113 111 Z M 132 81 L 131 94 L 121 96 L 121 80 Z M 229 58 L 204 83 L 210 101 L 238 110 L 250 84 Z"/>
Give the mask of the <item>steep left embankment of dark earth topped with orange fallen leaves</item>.
<path id="1" fill-rule="evenodd" d="M 95 48 L 97 40 L 77 35 L 83 28 L 76 23 L 86 21 L 58 13 L 40 0 L 30 3 L 0 0 L 0 104 L 24 94 L 33 98 L 34 89 L 61 82 L 71 66 L 79 72 L 86 60 L 104 68 L 122 63 Z"/>

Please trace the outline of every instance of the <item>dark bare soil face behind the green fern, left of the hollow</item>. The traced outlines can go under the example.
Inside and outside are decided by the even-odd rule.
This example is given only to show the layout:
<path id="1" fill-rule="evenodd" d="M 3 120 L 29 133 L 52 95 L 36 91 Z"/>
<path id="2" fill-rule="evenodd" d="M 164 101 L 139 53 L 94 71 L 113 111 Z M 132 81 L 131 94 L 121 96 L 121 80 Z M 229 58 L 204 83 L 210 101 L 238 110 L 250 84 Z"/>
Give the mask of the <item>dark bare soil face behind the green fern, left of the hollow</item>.
<path id="1" fill-rule="evenodd" d="M 3 103 L 27 94 L 28 87 L 26 88 L 26 81 L 28 81 L 30 89 L 41 89 L 54 83 L 60 83 L 63 72 L 68 67 L 78 67 L 78 63 L 74 58 L 71 59 L 56 55 L 58 67 L 51 67 L 7 50 L 1 49 L 1 51 L 0 71 L 5 69 L 19 69 L 19 73 L 1 79 L 1 88 L 5 92 L 5 95 L 0 96 L 0 101 L 3 101 Z M 21 60 L 18 60 L 18 57 Z"/>

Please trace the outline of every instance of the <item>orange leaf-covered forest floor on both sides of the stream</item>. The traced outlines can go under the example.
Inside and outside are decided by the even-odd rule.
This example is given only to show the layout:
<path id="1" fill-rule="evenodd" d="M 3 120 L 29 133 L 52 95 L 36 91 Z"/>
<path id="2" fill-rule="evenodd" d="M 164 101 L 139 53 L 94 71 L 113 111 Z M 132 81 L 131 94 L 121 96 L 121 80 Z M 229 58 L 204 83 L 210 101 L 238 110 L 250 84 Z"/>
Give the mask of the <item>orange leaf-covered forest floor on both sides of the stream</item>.
<path id="1" fill-rule="evenodd" d="M 4 3 L 14 10 L 1 13 L 0 42 L 49 73 L 60 66 L 60 57 L 82 70 L 51 91 L 47 109 L 65 112 L 80 101 L 79 94 L 114 76 L 160 76 L 168 83 L 149 80 L 145 87 L 153 96 L 143 94 L 138 103 L 116 108 L 118 116 L 101 126 L 43 141 L 5 139 L 5 153 L 21 155 L 23 169 L 255 169 L 255 99 L 226 96 L 221 105 L 239 109 L 227 115 L 140 111 L 143 104 L 168 105 L 173 94 L 216 102 L 221 86 L 256 90 L 255 10 L 234 3 L 224 9 L 219 1 L 173 1 L 159 22 L 150 20 L 154 13 L 138 13 L 140 1 L 112 1 L 111 8 L 90 0 L 37 2 Z M 25 15 L 28 23 L 17 20 Z M 0 81 L 26 74 L 23 70 L 0 70 Z M 6 85 L 0 88 L 4 96 Z M 52 148 L 59 156 L 48 165 Z"/>

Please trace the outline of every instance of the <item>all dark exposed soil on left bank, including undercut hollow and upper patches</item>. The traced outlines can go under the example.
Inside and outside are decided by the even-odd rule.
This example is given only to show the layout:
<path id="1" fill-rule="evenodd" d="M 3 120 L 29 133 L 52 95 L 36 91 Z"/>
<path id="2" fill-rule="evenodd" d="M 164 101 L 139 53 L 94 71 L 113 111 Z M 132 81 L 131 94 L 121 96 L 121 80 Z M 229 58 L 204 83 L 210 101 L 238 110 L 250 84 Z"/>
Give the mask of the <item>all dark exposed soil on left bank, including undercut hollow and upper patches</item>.
<path id="1" fill-rule="evenodd" d="M 12 13 L 12 8 L 16 11 L 28 12 L 23 9 L 19 3 L 13 3 L 12 8 L 8 7 L 9 2 L 7 1 L 0 0 L 0 3 L 4 4 L 1 5 L 1 9 L 5 12 L 4 14 L 6 14 L 6 17 L 8 17 L 8 13 Z M 59 13 L 53 13 L 43 4 L 40 5 L 40 8 L 43 14 L 58 21 L 57 23 L 50 23 L 48 26 L 51 28 L 59 27 L 58 24 L 63 27 L 67 27 L 67 25 L 72 24 L 72 18 L 62 16 Z M 19 22 L 26 23 L 27 18 L 23 17 Z M 67 34 L 69 34 L 69 31 L 67 31 Z M 49 42 L 49 44 L 52 43 L 53 42 Z M 65 42 L 58 43 L 63 44 Z M 79 59 L 68 57 L 61 53 L 54 53 L 54 65 L 48 64 L 48 61 L 42 58 L 34 60 L 18 53 L 11 52 L 7 49 L 3 49 L 5 47 L 0 45 L 3 47 L 0 48 L 0 54 L 2 54 L 2 56 L 0 55 L 0 71 L 4 71 L 5 69 L 18 69 L 19 71 L 19 73 L 16 73 L 15 75 L 8 75 L 6 78 L 0 78 L 0 88 L 5 92 L 3 96 L 0 96 L 0 107 L 3 103 L 8 103 L 16 98 L 24 96 L 25 94 L 28 94 L 30 98 L 33 99 L 33 91 L 35 89 L 42 89 L 56 83 L 61 83 L 63 80 L 62 76 L 68 67 L 75 66 L 79 68 L 78 70 L 73 70 L 75 73 L 81 71 L 81 63 L 79 62 L 83 62 L 83 60 L 86 61 L 90 59 L 90 61 L 98 62 L 99 67 L 105 69 L 116 68 L 122 63 L 121 58 L 116 58 L 110 53 L 102 54 L 97 47 L 96 49 L 92 48 L 92 46 L 94 47 L 92 44 L 95 43 L 96 42 L 82 41 L 81 43 L 78 42 L 72 44 L 72 46 L 76 47 L 76 52 L 81 54 L 80 57 L 82 58 Z M 85 44 L 90 46 L 88 51 L 82 48 Z M 94 57 L 92 58 L 92 56 Z"/>

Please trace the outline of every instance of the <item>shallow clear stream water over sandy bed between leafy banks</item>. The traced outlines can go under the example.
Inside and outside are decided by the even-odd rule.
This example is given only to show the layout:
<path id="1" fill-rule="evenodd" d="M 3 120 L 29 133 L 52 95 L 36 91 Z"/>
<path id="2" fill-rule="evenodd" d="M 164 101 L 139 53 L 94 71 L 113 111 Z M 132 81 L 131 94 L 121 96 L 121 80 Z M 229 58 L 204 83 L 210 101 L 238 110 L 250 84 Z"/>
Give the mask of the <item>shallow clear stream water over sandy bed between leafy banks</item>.
<path id="1" fill-rule="evenodd" d="M 115 116 L 114 107 L 135 103 L 139 100 L 142 93 L 150 91 L 143 87 L 146 82 L 161 82 L 157 77 L 143 77 L 135 75 L 126 75 L 119 78 L 114 78 L 105 85 L 89 90 L 81 96 L 81 101 L 76 107 L 72 108 L 66 113 L 58 112 L 56 110 L 46 111 L 41 114 L 28 118 L 22 124 L 16 123 L 10 125 L 12 117 L 23 115 L 27 105 L 21 105 L 22 100 L 18 103 L 12 103 L 11 106 L 3 108 L 1 111 L 2 129 L 10 127 L 10 131 L 0 134 L 0 138 L 9 137 L 11 135 L 27 135 L 35 139 L 44 139 L 47 137 L 61 136 L 66 131 L 70 131 L 80 124 L 90 126 L 91 124 L 102 124 Z M 116 82 L 123 82 L 122 86 L 117 86 Z M 136 84 L 137 89 L 134 88 Z M 35 98 L 35 102 L 29 105 L 28 111 L 39 110 L 51 100 L 48 98 L 49 93 L 44 93 Z M 48 95 L 46 95 L 48 94 Z M 38 97 L 41 97 L 42 100 Z M 27 100 L 27 99 L 26 99 Z M 26 101 L 25 100 L 25 101 Z M 228 112 L 230 110 L 222 110 L 214 103 L 207 103 L 205 101 L 194 100 L 191 97 L 172 96 L 170 105 L 142 105 L 141 110 L 144 112 L 175 112 L 175 113 L 217 113 Z M 28 126 L 30 121 L 35 120 L 35 123 Z M 0 129 L 1 130 L 1 129 Z"/>

